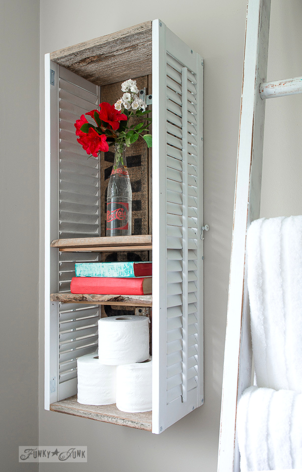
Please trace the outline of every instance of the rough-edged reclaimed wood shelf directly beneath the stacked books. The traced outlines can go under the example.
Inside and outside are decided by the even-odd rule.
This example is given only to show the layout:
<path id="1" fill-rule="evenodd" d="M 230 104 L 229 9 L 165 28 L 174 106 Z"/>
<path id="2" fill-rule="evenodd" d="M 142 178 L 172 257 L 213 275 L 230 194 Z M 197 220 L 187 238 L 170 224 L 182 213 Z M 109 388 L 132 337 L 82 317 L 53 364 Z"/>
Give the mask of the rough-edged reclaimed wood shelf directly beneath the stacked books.
<path id="1" fill-rule="evenodd" d="M 94 295 L 71 294 L 69 292 L 51 294 L 50 301 L 61 303 L 92 303 L 93 305 L 152 306 L 152 295 Z"/>

